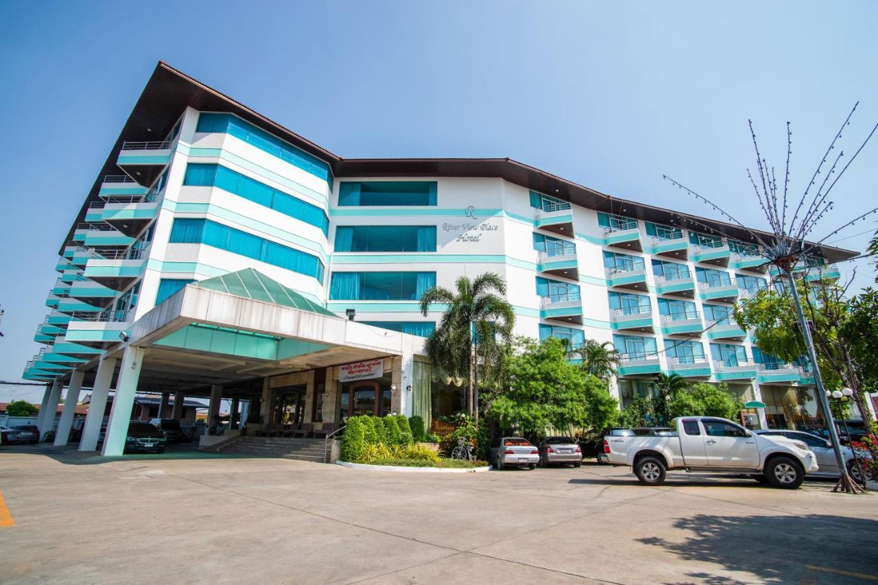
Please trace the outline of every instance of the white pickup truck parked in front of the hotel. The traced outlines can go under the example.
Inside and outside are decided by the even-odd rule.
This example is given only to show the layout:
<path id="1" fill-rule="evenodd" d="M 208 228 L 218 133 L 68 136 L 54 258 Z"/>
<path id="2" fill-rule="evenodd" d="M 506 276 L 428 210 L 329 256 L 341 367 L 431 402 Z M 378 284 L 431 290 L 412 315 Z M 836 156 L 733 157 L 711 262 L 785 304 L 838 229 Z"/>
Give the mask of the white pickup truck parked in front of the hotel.
<path id="1" fill-rule="evenodd" d="M 775 488 L 795 489 L 817 458 L 802 441 L 768 437 L 710 416 L 675 418 L 667 431 L 646 437 L 604 437 L 610 464 L 631 466 L 640 483 L 660 486 L 669 469 L 687 472 L 746 473 Z"/>

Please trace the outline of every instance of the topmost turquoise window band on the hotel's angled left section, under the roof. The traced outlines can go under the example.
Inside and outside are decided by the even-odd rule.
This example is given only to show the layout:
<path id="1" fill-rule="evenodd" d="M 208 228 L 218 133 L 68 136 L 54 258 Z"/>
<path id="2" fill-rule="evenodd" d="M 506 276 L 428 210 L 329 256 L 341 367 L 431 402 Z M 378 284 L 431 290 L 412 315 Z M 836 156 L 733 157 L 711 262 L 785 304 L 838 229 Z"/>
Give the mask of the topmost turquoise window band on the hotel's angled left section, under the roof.
<path id="1" fill-rule="evenodd" d="M 195 131 L 231 134 L 235 138 L 248 142 L 270 155 L 277 156 L 277 158 L 332 185 L 332 176 L 326 162 L 232 114 L 202 112 L 198 115 L 198 126 L 196 126 Z"/>

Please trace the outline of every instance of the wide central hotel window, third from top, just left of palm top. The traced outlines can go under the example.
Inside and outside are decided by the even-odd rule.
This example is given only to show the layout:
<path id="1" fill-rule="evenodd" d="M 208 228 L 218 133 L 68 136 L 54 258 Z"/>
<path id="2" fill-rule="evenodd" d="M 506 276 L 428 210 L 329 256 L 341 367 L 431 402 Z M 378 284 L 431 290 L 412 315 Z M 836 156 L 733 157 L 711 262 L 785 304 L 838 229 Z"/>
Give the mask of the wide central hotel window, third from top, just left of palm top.
<path id="1" fill-rule="evenodd" d="M 330 300 L 420 300 L 435 272 L 333 272 Z"/>

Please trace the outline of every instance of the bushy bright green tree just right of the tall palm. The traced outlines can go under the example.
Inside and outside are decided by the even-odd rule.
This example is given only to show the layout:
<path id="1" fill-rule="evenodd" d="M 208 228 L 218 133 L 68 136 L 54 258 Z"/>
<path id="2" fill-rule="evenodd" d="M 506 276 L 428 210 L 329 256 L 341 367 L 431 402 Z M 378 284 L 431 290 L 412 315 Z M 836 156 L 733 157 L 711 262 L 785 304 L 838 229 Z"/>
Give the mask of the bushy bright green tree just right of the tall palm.
<path id="1" fill-rule="evenodd" d="M 520 339 L 507 363 L 507 385 L 489 401 L 487 415 L 500 427 L 527 432 L 603 427 L 616 414 L 607 385 L 567 361 L 567 347 L 549 337 Z"/>

